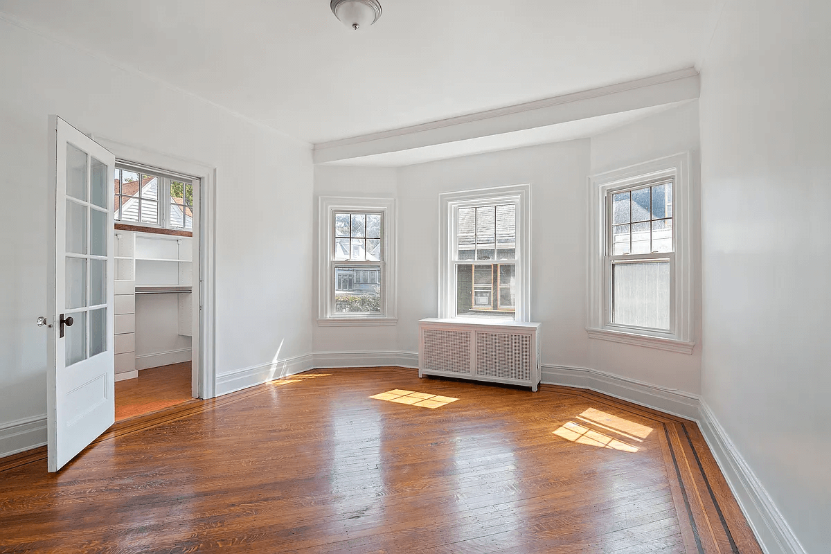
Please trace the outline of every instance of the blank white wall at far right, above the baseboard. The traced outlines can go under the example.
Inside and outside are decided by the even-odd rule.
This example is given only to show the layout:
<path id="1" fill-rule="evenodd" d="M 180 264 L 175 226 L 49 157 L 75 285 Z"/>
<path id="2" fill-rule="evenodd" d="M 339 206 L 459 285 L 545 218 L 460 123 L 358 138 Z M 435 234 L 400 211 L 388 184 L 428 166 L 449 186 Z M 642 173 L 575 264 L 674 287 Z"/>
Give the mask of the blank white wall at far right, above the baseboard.
<path id="1" fill-rule="evenodd" d="M 700 101 L 703 397 L 815 554 L 831 544 L 829 27 L 829 2 L 727 2 Z"/>

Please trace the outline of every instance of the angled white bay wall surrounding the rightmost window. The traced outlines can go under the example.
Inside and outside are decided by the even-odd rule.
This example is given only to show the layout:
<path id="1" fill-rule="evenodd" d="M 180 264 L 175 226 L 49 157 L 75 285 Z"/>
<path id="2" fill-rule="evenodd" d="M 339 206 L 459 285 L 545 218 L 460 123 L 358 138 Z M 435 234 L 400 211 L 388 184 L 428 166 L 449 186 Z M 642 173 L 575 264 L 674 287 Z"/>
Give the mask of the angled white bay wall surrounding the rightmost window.
<path id="1" fill-rule="evenodd" d="M 698 102 L 691 101 L 593 137 L 592 173 L 622 169 L 671 154 L 691 152 L 689 186 L 697 217 L 696 203 L 699 197 L 700 180 L 698 150 Z M 697 242 L 694 240 L 692 244 L 694 267 L 700 267 L 700 251 Z M 701 392 L 702 349 L 700 283 L 696 272 L 693 307 L 696 312 L 694 338 L 698 344 L 692 355 L 590 340 L 588 367 L 614 375 L 624 375 L 652 385 L 679 389 L 694 395 L 699 394 Z"/>

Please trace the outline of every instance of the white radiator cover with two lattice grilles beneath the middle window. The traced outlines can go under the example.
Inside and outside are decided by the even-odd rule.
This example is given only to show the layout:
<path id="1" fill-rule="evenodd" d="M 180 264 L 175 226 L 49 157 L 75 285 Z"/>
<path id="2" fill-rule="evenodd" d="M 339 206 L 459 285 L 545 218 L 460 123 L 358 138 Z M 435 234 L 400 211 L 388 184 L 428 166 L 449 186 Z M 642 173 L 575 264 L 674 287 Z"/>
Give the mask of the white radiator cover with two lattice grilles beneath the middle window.
<path id="1" fill-rule="evenodd" d="M 419 321 L 418 375 L 444 375 L 536 391 L 539 323 L 428 318 Z"/>

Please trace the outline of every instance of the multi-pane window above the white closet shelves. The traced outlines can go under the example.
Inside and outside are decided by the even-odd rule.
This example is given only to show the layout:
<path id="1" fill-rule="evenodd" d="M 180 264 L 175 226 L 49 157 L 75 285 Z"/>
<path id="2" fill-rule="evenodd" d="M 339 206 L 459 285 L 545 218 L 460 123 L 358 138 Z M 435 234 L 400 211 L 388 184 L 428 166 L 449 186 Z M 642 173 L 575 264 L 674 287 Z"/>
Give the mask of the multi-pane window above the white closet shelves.
<path id="1" fill-rule="evenodd" d="M 157 228 L 194 228 L 194 185 L 116 164 L 115 219 Z"/>

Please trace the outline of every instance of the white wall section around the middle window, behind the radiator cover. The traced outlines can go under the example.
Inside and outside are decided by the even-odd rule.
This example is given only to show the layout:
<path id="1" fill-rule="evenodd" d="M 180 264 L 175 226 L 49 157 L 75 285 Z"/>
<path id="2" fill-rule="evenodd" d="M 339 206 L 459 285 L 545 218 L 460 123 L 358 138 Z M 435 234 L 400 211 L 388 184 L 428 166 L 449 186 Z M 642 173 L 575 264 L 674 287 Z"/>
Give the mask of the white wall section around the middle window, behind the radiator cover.
<path id="1" fill-rule="evenodd" d="M 543 323 L 543 363 L 585 367 L 588 170 L 588 140 L 400 169 L 399 348 L 417 352 L 418 320 L 438 311 L 439 194 L 530 183 L 531 319 Z"/>

